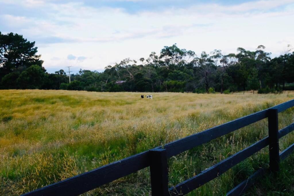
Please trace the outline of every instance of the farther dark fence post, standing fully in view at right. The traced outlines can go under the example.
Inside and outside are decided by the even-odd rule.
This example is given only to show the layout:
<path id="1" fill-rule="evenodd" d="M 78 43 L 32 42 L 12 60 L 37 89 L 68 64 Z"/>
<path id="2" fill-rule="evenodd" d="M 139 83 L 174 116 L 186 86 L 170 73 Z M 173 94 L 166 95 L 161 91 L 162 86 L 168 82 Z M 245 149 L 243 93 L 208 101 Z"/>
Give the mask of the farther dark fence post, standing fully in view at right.
<path id="1" fill-rule="evenodd" d="M 280 155 L 278 132 L 278 109 L 268 109 L 270 171 L 272 172 L 279 171 Z"/>

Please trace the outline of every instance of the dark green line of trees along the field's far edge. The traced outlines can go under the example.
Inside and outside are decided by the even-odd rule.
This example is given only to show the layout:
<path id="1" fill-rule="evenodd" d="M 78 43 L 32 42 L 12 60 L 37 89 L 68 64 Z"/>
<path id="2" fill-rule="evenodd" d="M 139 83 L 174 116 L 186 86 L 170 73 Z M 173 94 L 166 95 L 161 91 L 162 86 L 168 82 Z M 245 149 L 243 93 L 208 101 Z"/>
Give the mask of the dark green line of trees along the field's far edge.
<path id="1" fill-rule="evenodd" d="M 294 90 L 294 52 L 288 45 L 283 55 L 271 53 L 260 45 L 255 51 L 237 48 L 237 53 L 221 50 L 194 51 L 164 46 L 159 54 L 151 52 L 138 61 L 126 58 L 105 67 L 103 72 L 64 70 L 47 73 L 37 55 L 35 42 L 17 33 L 0 32 L 1 89 L 64 89 L 85 91 L 194 92 L 229 93 L 258 90 L 259 93 Z"/>

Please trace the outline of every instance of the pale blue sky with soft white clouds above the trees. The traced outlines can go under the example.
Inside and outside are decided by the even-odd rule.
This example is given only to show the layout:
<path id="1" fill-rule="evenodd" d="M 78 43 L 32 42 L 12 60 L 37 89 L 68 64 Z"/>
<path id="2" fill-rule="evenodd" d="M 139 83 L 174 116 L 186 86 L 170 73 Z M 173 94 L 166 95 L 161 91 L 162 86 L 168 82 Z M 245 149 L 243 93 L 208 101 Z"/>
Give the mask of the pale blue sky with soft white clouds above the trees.
<path id="1" fill-rule="evenodd" d="M 103 71 L 164 46 L 195 51 L 294 45 L 294 0 L 0 0 L 0 31 L 36 41 L 49 73 Z"/>

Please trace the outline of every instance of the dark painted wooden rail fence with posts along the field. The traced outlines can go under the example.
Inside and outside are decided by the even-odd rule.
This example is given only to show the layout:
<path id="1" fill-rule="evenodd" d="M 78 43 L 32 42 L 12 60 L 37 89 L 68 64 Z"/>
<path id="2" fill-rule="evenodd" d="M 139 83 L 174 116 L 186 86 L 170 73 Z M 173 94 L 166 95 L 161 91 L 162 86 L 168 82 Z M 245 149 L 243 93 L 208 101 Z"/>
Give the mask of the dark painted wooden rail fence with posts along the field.
<path id="1" fill-rule="evenodd" d="M 225 171 L 259 150 L 269 146 L 269 168 L 257 170 L 248 179 L 244 180 L 227 193 L 227 195 L 240 195 L 244 193 L 258 177 L 264 175 L 265 172 L 278 172 L 280 161 L 285 159 L 294 150 L 294 144 L 292 144 L 283 152 L 279 153 L 279 138 L 293 131 L 294 123 L 280 131 L 278 130 L 278 113 L 293 106 L 294 99 L 207 129 L 200 133 L 190 135 L 186 138 L 173 141 L 164 146 L 56 182 L 24 195 L 79 195 L 145 167 L 150 167 L 152 195 L 185 195 L 223 174 Z M 265 118 L 268 118 L 268 137 L 263 138 L 216 165 L 213 165 L 200 174 L 174 187 L 168 187 L 168 158 Z"/>

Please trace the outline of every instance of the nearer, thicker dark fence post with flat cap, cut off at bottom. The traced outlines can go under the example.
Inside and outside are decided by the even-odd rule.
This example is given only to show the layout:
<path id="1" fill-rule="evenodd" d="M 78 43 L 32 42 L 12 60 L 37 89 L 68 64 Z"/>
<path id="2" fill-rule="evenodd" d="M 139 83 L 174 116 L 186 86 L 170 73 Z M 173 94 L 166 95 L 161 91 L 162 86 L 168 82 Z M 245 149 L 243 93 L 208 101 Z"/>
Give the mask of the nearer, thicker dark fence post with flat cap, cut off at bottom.
<path id="1" fill-rule="evenodd" d="M 152 196 L 168 196 L 168 162 L 166 149 L 150 150 L 150 176 Z"/>

